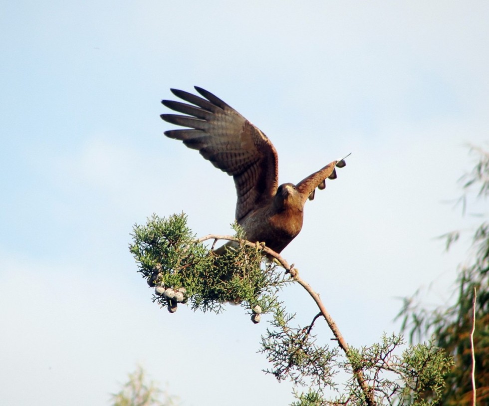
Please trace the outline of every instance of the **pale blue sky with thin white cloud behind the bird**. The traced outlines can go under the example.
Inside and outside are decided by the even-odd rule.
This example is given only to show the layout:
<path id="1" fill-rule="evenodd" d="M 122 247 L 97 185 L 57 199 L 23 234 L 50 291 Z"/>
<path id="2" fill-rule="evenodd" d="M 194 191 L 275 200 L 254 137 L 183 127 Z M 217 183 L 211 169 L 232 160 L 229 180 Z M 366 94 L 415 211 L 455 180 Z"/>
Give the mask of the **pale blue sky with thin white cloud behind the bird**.
<path id="1" fill-rule="evenodd" d="M 4 2 L 0 13 L 0 404 L 108 404 L 141 363 L 186 406 L 286 405 L 240 307 L 170 315 L 127 249 L 185 211 L 229 233 L 232 179 L 167 139 L 159 103 L 202 86 L 272 140 L 280 182 L 352 153 L 283 251 L 353 345 L 435 281 L 470 227 L 447 201 L 489 134 L 486 1 Z M 218 197 L 218 199 L 216 199 Z M 477 221 L 477 219 L 476 219 Z M 307 323 L 313 304 L 284 292 Z M 321 340 L 330 333 L 319 327 Z"/>

